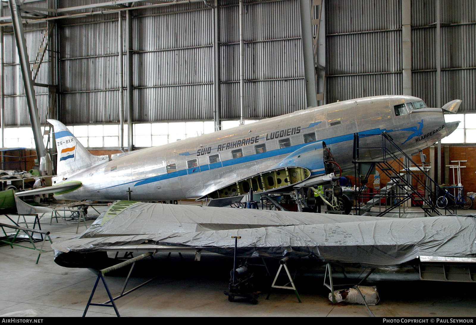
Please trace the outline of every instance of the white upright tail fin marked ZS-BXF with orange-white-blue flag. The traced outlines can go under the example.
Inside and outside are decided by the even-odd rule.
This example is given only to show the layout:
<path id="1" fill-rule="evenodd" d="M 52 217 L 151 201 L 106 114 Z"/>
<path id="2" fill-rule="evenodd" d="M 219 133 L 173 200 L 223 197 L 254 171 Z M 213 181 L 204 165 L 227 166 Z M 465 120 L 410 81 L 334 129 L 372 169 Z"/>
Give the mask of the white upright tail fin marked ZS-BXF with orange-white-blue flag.
<path id="1" fill-rule="evenodd" d="M 89 153 L 60 121 L 50 119 L 48 122 L 54 127 L 58 152 L 56 181 L 64 181 L 69 175 L 109 160 L 109 156 L 95 156 Z"/>

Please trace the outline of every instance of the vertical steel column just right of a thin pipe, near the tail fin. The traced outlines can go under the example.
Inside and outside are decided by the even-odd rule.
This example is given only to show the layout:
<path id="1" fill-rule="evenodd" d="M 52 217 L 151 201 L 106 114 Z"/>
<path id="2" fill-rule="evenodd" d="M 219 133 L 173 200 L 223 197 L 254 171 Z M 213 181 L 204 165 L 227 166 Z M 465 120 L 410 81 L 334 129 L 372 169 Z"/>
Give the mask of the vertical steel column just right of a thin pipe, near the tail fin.
<path id="1" fill-rule="evenodd" d="M 132 17 L 130 10 L 126 11 L 126 49 L 127 49 L 127 148 L 128 151 L 134 149 L 132 141 L 132 120 L 134 118 L 133 103 L 133 78 L 132 78 Z"/>

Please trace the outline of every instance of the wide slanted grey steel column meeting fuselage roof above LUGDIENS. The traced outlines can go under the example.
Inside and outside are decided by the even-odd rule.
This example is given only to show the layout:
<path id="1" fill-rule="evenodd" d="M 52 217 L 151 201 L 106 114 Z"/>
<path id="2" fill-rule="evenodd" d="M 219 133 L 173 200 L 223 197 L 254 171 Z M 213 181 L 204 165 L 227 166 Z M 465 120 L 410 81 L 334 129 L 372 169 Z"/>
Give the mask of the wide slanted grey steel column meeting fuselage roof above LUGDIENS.
<path id="1" fill-rule="evenodd" d="M 307 107 L 317 106 L 316 59 L 311 28 L 311 1 L 299 0 L 301 7 L 302 47 L 304 54 L 304 75 L 306 79 Z"/>

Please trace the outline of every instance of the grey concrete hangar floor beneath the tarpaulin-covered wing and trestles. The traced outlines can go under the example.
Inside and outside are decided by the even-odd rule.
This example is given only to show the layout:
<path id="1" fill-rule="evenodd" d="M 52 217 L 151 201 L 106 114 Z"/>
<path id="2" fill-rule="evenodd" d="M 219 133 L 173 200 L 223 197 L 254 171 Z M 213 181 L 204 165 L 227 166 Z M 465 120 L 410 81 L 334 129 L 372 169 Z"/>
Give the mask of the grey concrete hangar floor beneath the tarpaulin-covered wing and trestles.
<path id="1" fill-rule="evenodd" d="M 51 231 L 53 241 L 76 235 L 76 224 L 60 220 L 50 225 L 49 221 L 42 219 L 41 226 Z M 1 216 L 0 222 L 6 222 L 6 218 Z M 52 252 L 42 254 L 35 264 L 37 256 L 30 249 L 0 247 L 0 315 L 81 316 L 96 275 L 88 269 L 58 266 Z M 309 266 L 307 263 L 303 261 L 303 266 Z M 277 268 L 275 264 L 270 267 Z M 177 254 L 170 258 L 159 254 L 153 260 L 139 262 L 128 288 L 158 277 L 117 300 L 119 313 L 121 316 L 369 316 L 365 306 L 332 304 L 328 300 L 329 291 L 322 286 L 323 268 L 301 268 L 296 285 L 302 303 L 298 303 L 293 291 L 284 289 L 274 289 L 269 300 L 262 294 L 258 305 L 238 299 L 228 302 L 223 291 L 228 288 L 232 267 L 232 258 L 214 254 L 202 254 L 199 262 L 193 260 L 193 254 L 184 254 L 183 259 Z M 294 266 L 289 267 L 293 272 Z M 120 292 L 125 276 L 106 278 L 113 296 Z M 371 311 L 376 316 L 476 316 L 475 284 L 417 279 L 418 274 L 410 268 L 391 268 L 370 276 L 369 285 L 377 286 L 381 298 L 377 306 L 370 306 Z M 104 287 L 99 285 L 93 302 L 106 300 Z M 115 314 L 113 308 L 91 306 L 87 316 Z"/>

